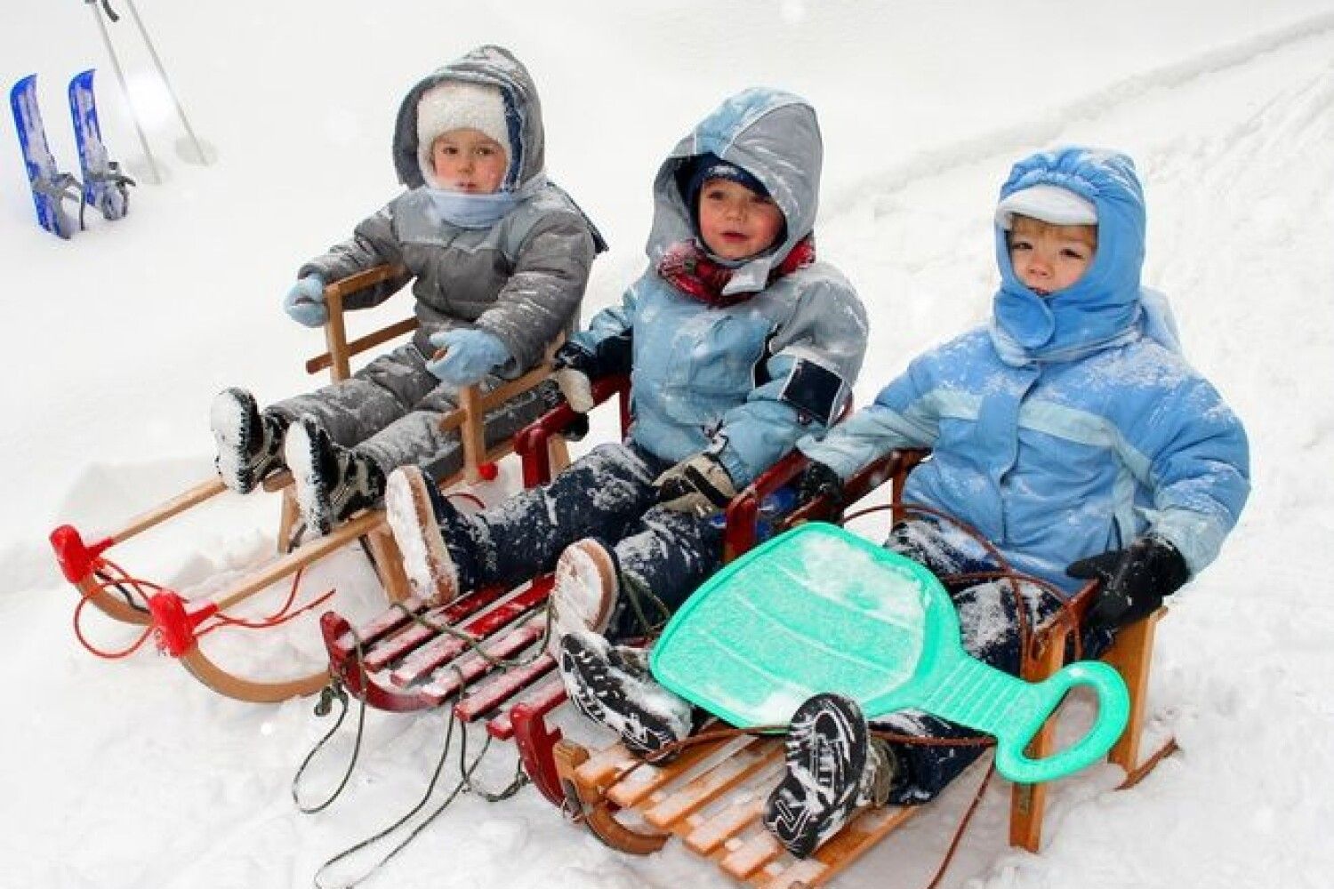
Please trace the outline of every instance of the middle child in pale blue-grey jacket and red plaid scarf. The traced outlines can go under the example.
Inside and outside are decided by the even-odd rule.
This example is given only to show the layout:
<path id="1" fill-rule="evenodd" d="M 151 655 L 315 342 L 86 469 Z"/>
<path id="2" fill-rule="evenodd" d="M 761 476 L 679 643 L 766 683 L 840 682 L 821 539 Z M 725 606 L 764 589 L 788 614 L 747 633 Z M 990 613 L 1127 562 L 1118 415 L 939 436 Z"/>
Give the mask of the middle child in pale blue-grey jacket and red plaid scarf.
<path id="1" fill-rule="evenodd" d="M 654 181 L 648 269 L 556 356 L 576 409 L 591 379 L 630 375 L 628 439 L 475 514 L 414 468 L 391 473 L 418 594 L 555 568 L 554 646 L 570 628 L 644 636 L 718 568 L 720 509 L 842 412 L 862 365 L 862 304 L 815 259 L 820 161 L 815 111 L 772 89 L 730 97 L 680 140 Z"/>

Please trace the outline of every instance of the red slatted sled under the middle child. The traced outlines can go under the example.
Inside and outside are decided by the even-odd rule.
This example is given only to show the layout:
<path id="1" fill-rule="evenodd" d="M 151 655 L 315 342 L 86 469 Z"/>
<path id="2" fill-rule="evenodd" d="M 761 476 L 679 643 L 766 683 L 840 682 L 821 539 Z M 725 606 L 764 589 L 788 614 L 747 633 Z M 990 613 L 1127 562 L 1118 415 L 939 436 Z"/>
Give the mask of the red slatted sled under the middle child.
<path id="1" fill-rule="evenodd" d="M 594 384 L 594 400 L 618 397 L 622 428 L 628 428 L 628 380 L 603 379 Z M 551 478 L 547 440 L 575 419 L 568 405 L 551 411 L 516 436 L 523 457 L 524 484 Z M 862 473 L 850 485 L 895 484 L 918 454 L 895 456 Z M 791 453 L 740 492 L 726 512 L 724 560 L 751 549 L 767 530 L 766 504 L 790 485 L 806 466 Z M 804 514 L 804 510 L 803 510 Z M 450 605 L 424 609 L 415 598 L 395 604 L 379 617 L 354 628 L 336 612 L 321 618 L 331 674 L 366 704 L 383 710 L 412 712 L 450 705 L 462 722 L 483 722 L 487 733 L 514 741 L 524 772 L 556 806 L 570 793 L 556 766 L 560 729 L 548 721 L 566 701 L 555 676 L 555 661 L 540 652 L 546 634 L 544 606 L 550 574 L 512 590 L 488 588 L 468 593 Z M 508 669 L 480 656 L 519 662 Z"/>

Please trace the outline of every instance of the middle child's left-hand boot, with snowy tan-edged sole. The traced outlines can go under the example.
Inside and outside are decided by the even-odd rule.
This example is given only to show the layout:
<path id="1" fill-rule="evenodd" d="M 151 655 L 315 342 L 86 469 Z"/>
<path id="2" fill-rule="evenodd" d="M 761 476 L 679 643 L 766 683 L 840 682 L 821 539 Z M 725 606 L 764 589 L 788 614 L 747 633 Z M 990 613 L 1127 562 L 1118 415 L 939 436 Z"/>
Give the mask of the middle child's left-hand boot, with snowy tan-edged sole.
<path id="1" fill-rule="evenodd" d="M 466 520 L 420 466 L 390 473 L 384 512 L 414 596 L 447 605 L 476 586 L 476 558 L 463 542 Z"/>

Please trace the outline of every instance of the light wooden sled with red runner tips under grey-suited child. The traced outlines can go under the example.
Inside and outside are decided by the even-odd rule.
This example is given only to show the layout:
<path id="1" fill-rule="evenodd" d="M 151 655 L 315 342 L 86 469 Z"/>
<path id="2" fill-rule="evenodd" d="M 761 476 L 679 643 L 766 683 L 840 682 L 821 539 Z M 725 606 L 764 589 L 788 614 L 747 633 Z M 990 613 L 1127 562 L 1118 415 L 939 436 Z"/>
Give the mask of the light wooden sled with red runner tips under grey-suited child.
<path id="1" fill-rule="evenodd" d="M 334 381 L 344 380 L 351 376 L 351 356 L 411 333 L 418 325 L 416 319 L 406 319 L 348 343 L 344 323 L 343 304 L 348 295 L 386 283 L 402 285 L 406 276 L 407 272 L 402 267 L 382 265 L 329 284 L 324 289 L 329 315 L 324 325 L 328 352 L 307 361 L 307 372 L 319 373 L 328 369 Z M 482 393 L 478 387 L 467 387 L 459 393 L 459 408 L 443 417 L 442 428 L 458 431 L 463 464 L 458 472 L 440 480 L 442 486 L 495 477 L 495 461 L 514 452 L 514 441 L 503 440 L 490 445 L 486 443 L 484 417 L 487 412 L 542 384 L 547 376 L 548 371 L 546 365 L 542 365 L 490 392 Z M 556 465 L 568 462 L 563 439 L 551 437 L 544 444 L 550 449 L 544 454 L 546 460 Z M 376 574 L 390 601 L 408 597 L 407 577 L 403 573 L 402 557 L 394 544 L 392 534 L 390 534 L 383 509 L 364 512 L 335 528 L 329 534 L 293 545 L 300 512 L 291 473 L 283 472 L 265 478 L 263 488 L 271 493 L 276 492 L 281 497 L 277 529 L 279 554 L 213 594 L 187 600 L 173 590 L 161 589 L 148 597 L 137 586 L 133 590 L 127 590 L 125 585 L 119 585 L 124 597 L 117 597 L 107 589 L 108 585 L 116 585 L 117 576 L 109 570 L 109 562 L 103 557 L 103 553 L 227 490 L 216 476 L 131 518 L 119 530 L 92 542 L 87 542 L 73 525 L 56 528 L 51 533 L 56 561 L 61 573 L 79 589 L 87 602 L 113 620 L 149 628 L 163 650 L 180 660 L 191 674 L 213 690 L 228 697 L 256 702 L 276 702 L 289 697 L 312 694 L 329 682 L 325 666 L 285 678 L 239 676 L 215 662 L 200 648 L 197 637 L 201 625 L 211 618 L 216 620 L 256 593 L 271 588 L 280 580 L 292 577 L 354 541 L 362 541 L 372 557 Z M 133 586 L 133 582 L 129 585 Z"/>

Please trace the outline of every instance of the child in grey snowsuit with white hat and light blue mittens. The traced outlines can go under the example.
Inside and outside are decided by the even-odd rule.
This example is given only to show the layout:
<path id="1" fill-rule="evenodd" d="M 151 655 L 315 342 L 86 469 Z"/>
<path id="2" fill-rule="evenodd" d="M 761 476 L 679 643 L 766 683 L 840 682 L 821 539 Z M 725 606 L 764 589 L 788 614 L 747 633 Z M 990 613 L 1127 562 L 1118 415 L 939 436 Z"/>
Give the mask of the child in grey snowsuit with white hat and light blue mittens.
<path id="1" fill-rule="evenodd" d="M 420 466 L 434 478 L 455 472 L 460 444 L 439 423 L 456 408 L 458 391 L 498 385 L 542 361 L 576 325 L 590 267 L 604 249 L 575 203 L 547 181 L 538 93 L 506 49 L 474 49 L 408 91 L 394 164 L 408 191 L 303 265 L 284 309 L 319 327 L 328 283 L 402 265 L 402 277 L 347 305 L 378 305 L 414 281 L 412 343 L 350 380 L 264 411 L 243 389 L 221 392 L 212 408 L 223 481 L 245 493 L 291 468 L 305 524 L 319 533 L 378 505 L 395 466 Z M 512 436 L 550 404 L 539 392 L 511 400 L 487 417 L 487 443 Z"/>

